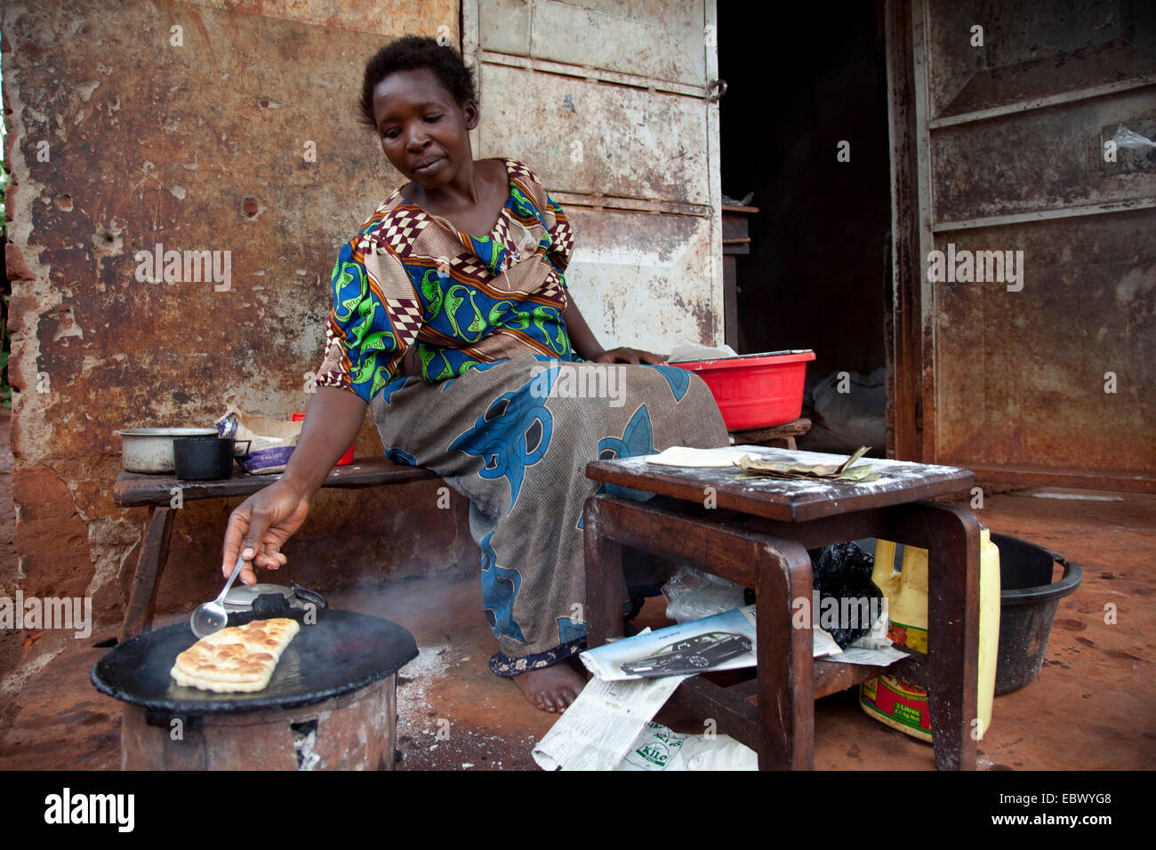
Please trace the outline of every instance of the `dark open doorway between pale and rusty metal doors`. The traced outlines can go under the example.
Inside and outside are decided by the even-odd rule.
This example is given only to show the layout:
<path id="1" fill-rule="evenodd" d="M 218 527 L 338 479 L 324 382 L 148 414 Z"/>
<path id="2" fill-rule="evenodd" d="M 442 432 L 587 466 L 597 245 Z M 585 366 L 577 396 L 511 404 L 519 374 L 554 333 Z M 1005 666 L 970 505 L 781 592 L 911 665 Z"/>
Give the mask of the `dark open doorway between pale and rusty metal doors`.
<path id="1" fill-rule="evenodd" d="M 813 348 L 800 448 L 885 453 L 890 165 L 883 3 L 720 3 L 722 193 L 753 193 L 740 354 Z M 725 200 L 724 204 L 727 201 Z"/>

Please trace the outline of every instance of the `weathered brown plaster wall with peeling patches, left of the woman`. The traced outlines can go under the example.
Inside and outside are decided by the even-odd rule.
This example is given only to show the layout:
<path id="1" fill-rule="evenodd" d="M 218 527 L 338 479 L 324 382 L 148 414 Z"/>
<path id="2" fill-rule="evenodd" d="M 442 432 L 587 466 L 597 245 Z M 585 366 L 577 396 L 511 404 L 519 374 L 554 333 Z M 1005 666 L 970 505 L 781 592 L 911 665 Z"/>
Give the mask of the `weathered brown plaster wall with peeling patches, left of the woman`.
<path id="1" fill-rule="evenodd" d="M 458 27 L 455 0 L 5 3 L 20 562 L 2 592 L 90 596 L 114 622 L 144 509 L 112 503 L 112 431 L 212 424 L 230 391 L 269 416 L 304 408 L 338 247 L 398 183 L 356 124 L 364 62 L 409 32 L 457 44 Z M 138 281 L 156 243 L 230 252 L 229 290 Z M 366 420 L 357 453 L 379 452 Z M 437 486 L 321 493 L 273 578 L 474 569 L 464 504 L 438 510 Z M 160 609 L 216 592 L 237 503 L 178 513 Z"/>

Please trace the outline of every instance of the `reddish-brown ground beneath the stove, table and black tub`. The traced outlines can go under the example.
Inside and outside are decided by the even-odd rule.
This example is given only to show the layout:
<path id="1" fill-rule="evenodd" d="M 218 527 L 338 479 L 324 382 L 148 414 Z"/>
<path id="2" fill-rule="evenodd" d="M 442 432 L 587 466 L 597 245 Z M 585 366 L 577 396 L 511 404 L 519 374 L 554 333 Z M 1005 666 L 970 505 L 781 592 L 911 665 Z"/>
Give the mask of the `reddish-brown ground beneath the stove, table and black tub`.
<path id="1" fill-rule="evenodd" d="M 995 699 L 992 727 L 980 741 L 981 769 L 1156 764 L 1156 496 L 1090 495 L 1096 500 L 995 495 L 979 511 L 993 531 L 1044 545 L 1084 568 L 1080 589 L 1060 604 L 1037 680 Z M 1117 607 L 1116 624 L 1104 622 L 1107 603 Z M 476 579 L 401 582 L 335 596 L 331 604 L 395 620 L 421 648 L 398 680 L 401 769 L 538 769 L 531 749 L 556 717 L 490 674 L 487 659 L 497 643 L 481 614 Z M 664 624 L 662 612 L 661 600 L 651 600 L 642 621 Z M 15 696 L 10 722 L 0 725 L 0 770 L 119 767 L 120 705 L 88 679 L 105 651 L 88 644 L 111 634 L 109 626 L 91 641 L 53 645 L 42 633 L 43 645 L 25 644 L 22 678 L 6 682 Z M 703 731 L 670 709 L 657 719 Z M 934 767 L 929 745 L 869 719 L 853 692 L 816 703 L 815 729 L 815 767 L 822 770 Z"/>

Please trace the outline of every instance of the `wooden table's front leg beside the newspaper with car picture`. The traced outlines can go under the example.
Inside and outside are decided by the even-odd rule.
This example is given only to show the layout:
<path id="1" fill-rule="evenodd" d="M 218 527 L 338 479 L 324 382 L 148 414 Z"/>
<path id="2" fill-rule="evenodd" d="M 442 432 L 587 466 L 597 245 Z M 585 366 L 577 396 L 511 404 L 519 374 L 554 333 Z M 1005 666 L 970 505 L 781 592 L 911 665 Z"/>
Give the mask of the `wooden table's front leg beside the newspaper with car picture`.
<path id="1" fill-rule="evenodd" d="M 759 770 L 815 769 L 814 659 L 810 622 L 794 628 L 793 603 L 812 605 L 807 550 L 772 539 L 756 575 Z"/>

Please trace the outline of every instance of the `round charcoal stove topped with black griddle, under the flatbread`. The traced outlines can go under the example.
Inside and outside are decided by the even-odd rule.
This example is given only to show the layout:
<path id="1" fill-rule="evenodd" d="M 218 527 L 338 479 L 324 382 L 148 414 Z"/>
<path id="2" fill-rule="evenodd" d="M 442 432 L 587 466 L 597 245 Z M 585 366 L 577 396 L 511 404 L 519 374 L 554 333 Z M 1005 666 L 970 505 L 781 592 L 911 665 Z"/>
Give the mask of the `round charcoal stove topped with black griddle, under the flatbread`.
<path id="1" fill-rule="evenodd" d="M 169 671 L 197 637 L 187 622 L 132 637 L 92 666 L 92 685 L 124 703 L 125 770 L 392 770 L 397 673 L 417 656 L 398 623 L 350 611 L 294 608 L 260 597 L 230 626 L 302 623 L 269 685 L 249 694 L 183 687 Z"/>

